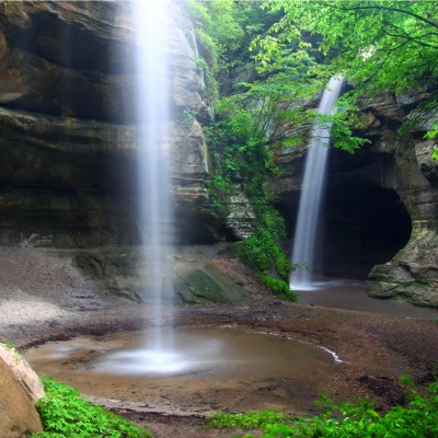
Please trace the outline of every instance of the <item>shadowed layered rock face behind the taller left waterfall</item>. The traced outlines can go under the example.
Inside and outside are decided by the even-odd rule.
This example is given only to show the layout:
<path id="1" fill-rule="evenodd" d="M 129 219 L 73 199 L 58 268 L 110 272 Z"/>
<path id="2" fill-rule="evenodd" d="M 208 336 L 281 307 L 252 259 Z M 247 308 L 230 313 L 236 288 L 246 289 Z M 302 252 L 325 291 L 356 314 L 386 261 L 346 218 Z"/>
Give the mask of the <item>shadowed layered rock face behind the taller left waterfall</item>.
<path id="1" fill-rule="evenodd" d="M 199 124 L 208 117 L 194 28 L 166 4 L 168 139 L 177 239 L 214 234 Z M 0 5 L 0 244 L 141 243 L 131 2 L 7 1 Z M 187 224 L 197 223 L 187 235 Z"/>

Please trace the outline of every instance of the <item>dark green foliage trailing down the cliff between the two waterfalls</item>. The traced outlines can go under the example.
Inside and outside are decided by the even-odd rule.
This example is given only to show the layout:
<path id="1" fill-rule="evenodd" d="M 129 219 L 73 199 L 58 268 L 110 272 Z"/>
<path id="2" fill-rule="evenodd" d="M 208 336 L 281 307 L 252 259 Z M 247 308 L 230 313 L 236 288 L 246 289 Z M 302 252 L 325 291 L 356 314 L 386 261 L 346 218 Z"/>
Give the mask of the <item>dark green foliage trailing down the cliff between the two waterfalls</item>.
<path id="1" fill-rule="evenodd" d="M 287 278 L 290 262 L 281 241 L 286 238 L 283 218 L 267 205 L 266 174 L 273 171 L 264 132 L 257 119 L 233 99 L 222 99 L 218 119 L 205 128 L 215 176 L 208 185 L 210 199 L 219 215 L 228 214 L 227 201 L 233 184 L 249 196 L 256 215 L 255 233 L 237 247 L 237 255 L 257 275 Z"/>

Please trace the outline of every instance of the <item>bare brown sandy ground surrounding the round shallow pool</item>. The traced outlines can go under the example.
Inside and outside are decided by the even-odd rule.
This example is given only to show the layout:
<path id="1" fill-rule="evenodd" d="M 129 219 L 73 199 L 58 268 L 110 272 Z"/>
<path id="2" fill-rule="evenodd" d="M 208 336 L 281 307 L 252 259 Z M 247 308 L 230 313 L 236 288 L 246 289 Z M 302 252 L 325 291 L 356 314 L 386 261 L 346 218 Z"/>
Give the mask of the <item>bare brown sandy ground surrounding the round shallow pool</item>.
<path id="1" fill-rule="evenodd" d="M 403 402 L 399 376 L 426 384 L 438 365 L 438 324 L 431 321 L 293 304 L 273 298 L 237 261 L 212 254 L 231 278 L 244 276 L 249 304 L 195 306 L 176 310 L 175 325 L 235 325 L 312 343 L 336 353 L 341 362 L 320 384 L 336 401 L 367 394 L 382 408 Z M 80 334 L 107 334 L 147 327 L 148 309 L 126 298 L 102 296 L 70 258 L 50 251 L 1 249 L 0 338 L 27 348 Z M 115 407 L 117 411 L 117 407 Z M 231 437 L 210 430 L 204 419 L 164 413 L 124 415 L 146 424 L 158 437 Z"/>

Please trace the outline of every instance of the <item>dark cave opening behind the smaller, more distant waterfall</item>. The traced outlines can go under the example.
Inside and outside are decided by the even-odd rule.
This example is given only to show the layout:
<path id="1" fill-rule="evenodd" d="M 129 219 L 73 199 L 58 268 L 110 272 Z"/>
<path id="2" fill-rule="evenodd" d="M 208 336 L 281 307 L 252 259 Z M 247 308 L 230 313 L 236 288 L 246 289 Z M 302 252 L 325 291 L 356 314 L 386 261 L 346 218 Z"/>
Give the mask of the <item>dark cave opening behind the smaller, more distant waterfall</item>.
<path id="1" fill-rule="evenodd" d="M 285 217 L 289 250 L 299 193 L 289 193 L 275 206 Z M 367 180 L 343 181 L 328 174 L 318 223 L 314 274 L 365 280 L 373 265 L 389 262 L 407 243 L 408 212 L 397 193 Z"/>

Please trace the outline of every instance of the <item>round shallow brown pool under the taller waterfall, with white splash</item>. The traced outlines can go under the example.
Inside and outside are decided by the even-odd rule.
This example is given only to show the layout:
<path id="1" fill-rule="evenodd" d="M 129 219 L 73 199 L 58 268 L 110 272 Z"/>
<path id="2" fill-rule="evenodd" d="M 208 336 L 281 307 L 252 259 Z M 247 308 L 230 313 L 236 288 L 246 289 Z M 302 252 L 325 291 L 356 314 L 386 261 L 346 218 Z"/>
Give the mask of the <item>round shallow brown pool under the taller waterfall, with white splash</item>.
<path id="1" fill-rule="evenodd" d="M 149 333 L 149 336 L 151 333 Z M 234 328 L 164 334 L 161 351 L 148 333 L 78 337 L 26 353 L 32 367 L 107 406 L 171 413 L 278 407 L 311 411 L 336 362 L 326 350 Z"/>

